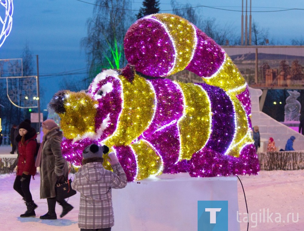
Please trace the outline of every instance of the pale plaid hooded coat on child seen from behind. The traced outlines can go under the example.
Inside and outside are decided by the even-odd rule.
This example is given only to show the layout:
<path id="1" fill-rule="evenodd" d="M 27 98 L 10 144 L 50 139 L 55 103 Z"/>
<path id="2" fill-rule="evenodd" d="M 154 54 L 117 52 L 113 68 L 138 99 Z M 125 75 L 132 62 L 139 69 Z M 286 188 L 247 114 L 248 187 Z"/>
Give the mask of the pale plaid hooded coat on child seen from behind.
<path id="1" fill-rule="evenodd" d="M 106 170 L 102 163 L 84 164 L 75 174 L 71 186 L 79 191 L 80 205 L 78 227 L 81 229 L 103 229 L 114 226 L 112 188 L 124 188 L 127 177 L 119 163 Z"/>

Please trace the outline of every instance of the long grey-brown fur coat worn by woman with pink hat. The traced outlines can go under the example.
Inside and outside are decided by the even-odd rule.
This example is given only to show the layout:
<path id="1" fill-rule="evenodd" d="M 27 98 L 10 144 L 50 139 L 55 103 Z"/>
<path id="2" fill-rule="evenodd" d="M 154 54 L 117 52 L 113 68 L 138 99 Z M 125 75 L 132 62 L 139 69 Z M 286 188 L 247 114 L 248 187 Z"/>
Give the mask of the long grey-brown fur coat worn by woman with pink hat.
<path id="1" fill-rule="evenodd" d="M 56 197 L 57 177 L 68 178 L 67 161 L 61 153 L 62 132 L 55 127 L 43 136 L 40 162 L 40 199 Z"/>

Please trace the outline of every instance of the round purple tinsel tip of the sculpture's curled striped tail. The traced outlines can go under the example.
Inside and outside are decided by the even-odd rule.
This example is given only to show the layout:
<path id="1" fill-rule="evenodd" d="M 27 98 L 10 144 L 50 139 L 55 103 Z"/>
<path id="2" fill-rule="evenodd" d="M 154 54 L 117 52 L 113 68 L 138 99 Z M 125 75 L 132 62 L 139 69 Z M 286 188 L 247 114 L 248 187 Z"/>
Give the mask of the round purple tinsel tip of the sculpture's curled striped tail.
<path id="1" fill-rule="evenodd" d="M 129 63 L 145 75 L 166 76 L 173 67 L 173 44 L 164 27 L 153 19 L 139 19 L 130 26 L 124 48 Z"/>

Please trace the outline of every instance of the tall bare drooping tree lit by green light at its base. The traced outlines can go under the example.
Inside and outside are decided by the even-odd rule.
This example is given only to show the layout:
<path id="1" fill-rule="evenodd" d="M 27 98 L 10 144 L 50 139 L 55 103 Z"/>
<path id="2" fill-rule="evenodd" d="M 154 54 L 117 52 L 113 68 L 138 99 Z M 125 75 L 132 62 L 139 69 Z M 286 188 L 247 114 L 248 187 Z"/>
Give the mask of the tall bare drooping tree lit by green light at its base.
<path id="1" fill-rule="evenodd" d="M 87 54 L 89 80 L 103 68 L 119 68 L 125 64 L 123 38 L 133 19 L 128 9 L 127 0 L 95 1 L 93 17 L 87 21 L 88 36 L 81 40 Z"/>

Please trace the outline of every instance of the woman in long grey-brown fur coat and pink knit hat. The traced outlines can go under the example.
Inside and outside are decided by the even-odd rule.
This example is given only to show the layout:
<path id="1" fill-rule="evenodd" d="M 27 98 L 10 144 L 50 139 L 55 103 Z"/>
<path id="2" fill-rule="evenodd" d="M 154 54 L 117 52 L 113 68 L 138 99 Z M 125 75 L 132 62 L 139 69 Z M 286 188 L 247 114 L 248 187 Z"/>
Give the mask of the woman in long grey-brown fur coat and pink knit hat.
<path id="1" fill-rule="evenodd" d="M 52 119 L 42 122 L 43 142 L 40 145 L 36 166 L 40 167 L 40 199 L 47 198 L 48 212 L 40 219 L 57 219 L 55 212 L 56 191 L 55 185 L 68 179 L 67 161 L 61 153 L 62 132 Z M 57 201 L 63 210 L 63 217 L 73 209 L 64 199 Z"/>

